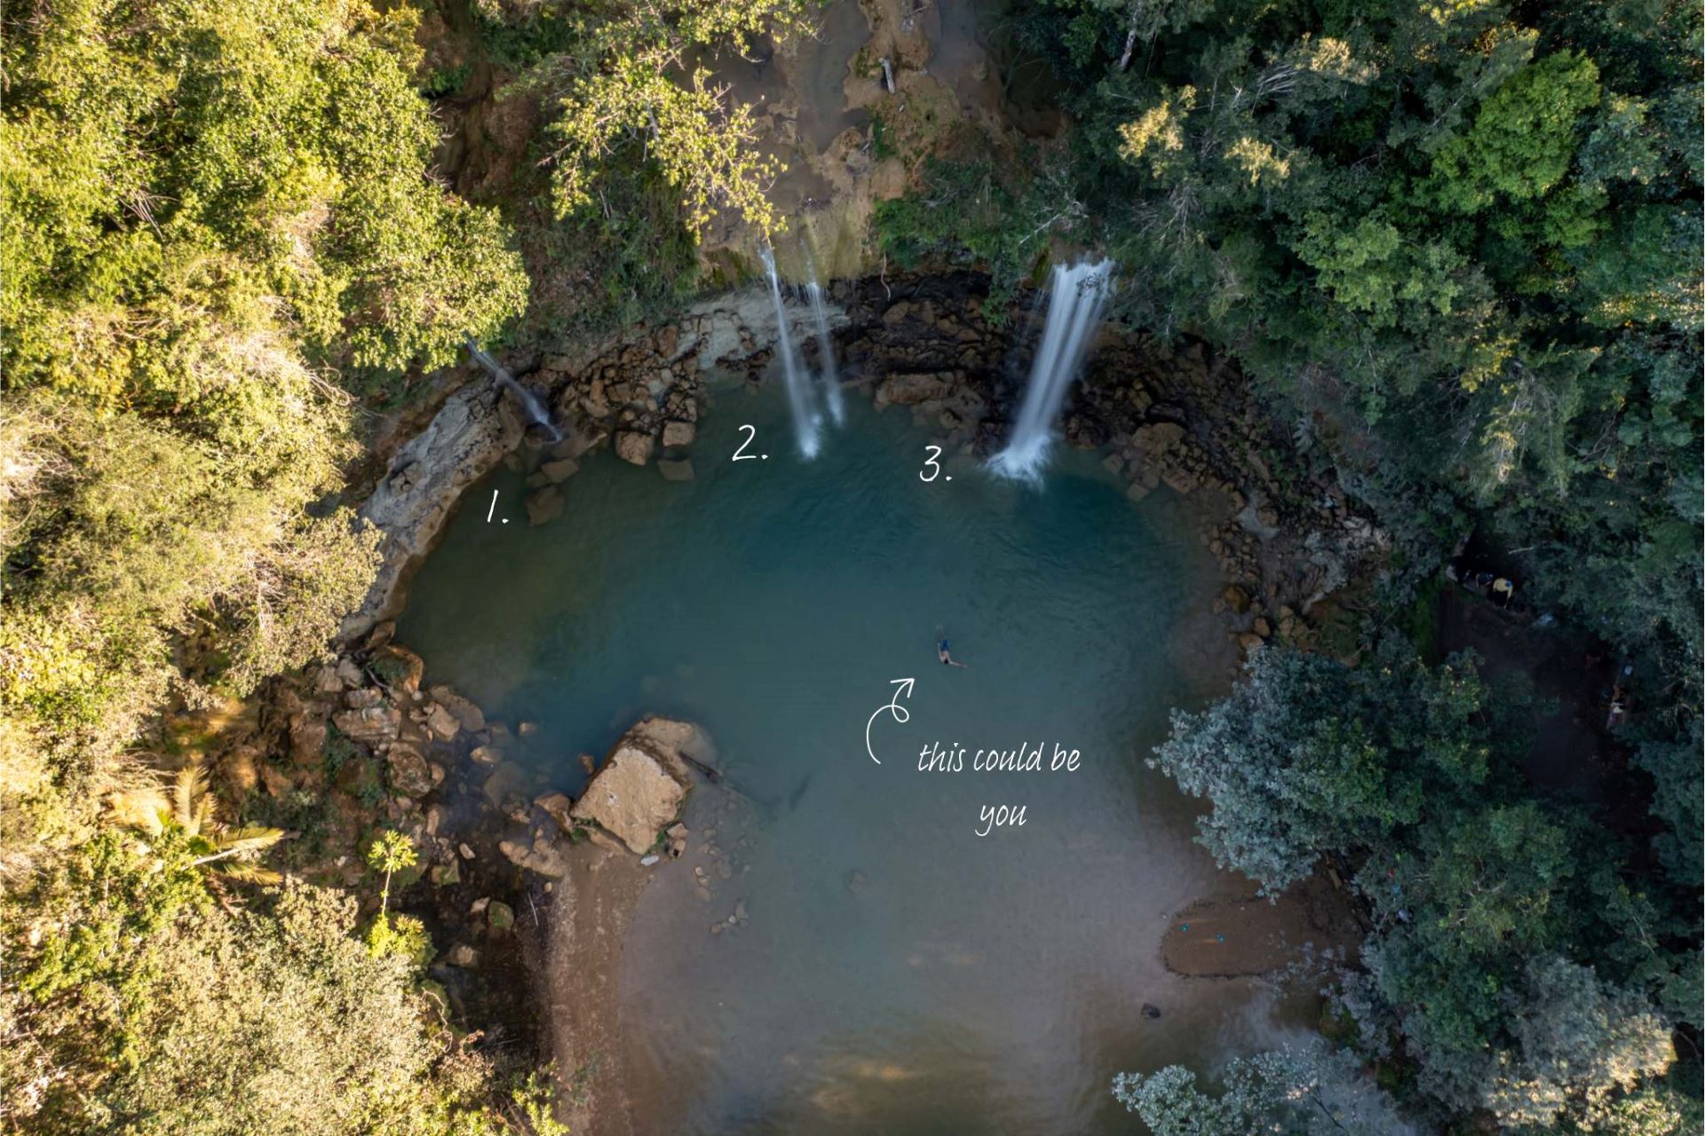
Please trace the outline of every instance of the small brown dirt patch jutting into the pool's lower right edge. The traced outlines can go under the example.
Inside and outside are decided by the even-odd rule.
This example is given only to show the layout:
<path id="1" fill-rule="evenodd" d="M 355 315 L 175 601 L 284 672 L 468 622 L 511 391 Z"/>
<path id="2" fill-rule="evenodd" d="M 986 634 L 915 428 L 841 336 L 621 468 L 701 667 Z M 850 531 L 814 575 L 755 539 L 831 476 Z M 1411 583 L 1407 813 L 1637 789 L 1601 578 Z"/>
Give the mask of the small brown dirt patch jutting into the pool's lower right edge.
<path id="1" fill-rule="evenodd" d="M 1275 903 L 1260 896 L 1197 899 L 1171 916 L 1161 961 L 1187 978 L 1246 978 L 1301 962 L 1308 947 L 1354 961 L 1361 937 L 1350 894 L 1316 875 Z"/>

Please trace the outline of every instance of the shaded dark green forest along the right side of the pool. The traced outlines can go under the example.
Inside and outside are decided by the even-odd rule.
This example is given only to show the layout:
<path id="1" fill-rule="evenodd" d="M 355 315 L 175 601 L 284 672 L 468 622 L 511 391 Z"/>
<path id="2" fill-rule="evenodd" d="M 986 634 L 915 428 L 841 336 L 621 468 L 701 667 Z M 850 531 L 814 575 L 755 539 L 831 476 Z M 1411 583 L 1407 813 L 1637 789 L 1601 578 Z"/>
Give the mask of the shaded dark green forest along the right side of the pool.
<path id="1" fill-rule="evenodd" d="M 1263 652 L 1175 719 L 1204 843 L 1272 891 L 1354 872 L 1376 930 L 1335 1025 L 1413 1112 L 1696 1129 L 1698 9 L 1091 0 L 1011 34 L 1076 126 L 943 157 L 890 254 L 1016 279 L 1038 221 L 1108 249 L 1118 317 L 1233 351 L 1396 542 L 1355 666 Z M 1531 789 L 1475 661 L 1396 634 L 1470 531 L 1637 659 L 1656 835 Z M 1158 1133 L 1332 1131 L 1292 1092 L 1328 1073 L 1282 1071 L 1118 1092 Z"/>

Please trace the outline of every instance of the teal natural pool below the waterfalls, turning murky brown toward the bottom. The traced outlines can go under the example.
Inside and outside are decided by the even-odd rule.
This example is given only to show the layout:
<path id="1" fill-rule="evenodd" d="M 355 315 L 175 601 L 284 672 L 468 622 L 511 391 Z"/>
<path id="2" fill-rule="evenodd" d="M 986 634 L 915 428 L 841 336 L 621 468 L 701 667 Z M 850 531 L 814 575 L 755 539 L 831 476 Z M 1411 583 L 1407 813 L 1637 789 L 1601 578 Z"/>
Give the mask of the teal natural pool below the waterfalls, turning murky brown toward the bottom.
<path id="1" fill-rule="evenodd" d="M 963 458 L 926 484 L 904 410 L 847 417 L 801 463 L 776 393 L 718 390 L 694 480 L 600 453 L 542 528 L 500 472 L 401 639 L 433 681 L 537 722 L 522 760 L 558 789 L 646 712 L 716 743 L 726 783 L 689 799 L 692 855 L 656 870 L 627 942 L 612 1059 L 638 1133 L 1129 1131 L 1115 1071 L 1205 1068 L 1274 1029 L 1251 984 L 1158 957 L 1171 911 L 1248 891 L 1142 765 L 1204 693 L 1212 564 L 1175 497 L 1132 504 L 1089 455 L 1055 455 L 1040 489 Z M 742 424 L 767 458 L 730 460 Z M 967 669 L 936 661 L 938 625 Z M 864 726 L 899 678 L 910 719 L 876 719 L 876 765 Z M 926 743 L 1081 763 L 919 773 Z M 1025 826 L 979 836 L 1001 804 Z"/>

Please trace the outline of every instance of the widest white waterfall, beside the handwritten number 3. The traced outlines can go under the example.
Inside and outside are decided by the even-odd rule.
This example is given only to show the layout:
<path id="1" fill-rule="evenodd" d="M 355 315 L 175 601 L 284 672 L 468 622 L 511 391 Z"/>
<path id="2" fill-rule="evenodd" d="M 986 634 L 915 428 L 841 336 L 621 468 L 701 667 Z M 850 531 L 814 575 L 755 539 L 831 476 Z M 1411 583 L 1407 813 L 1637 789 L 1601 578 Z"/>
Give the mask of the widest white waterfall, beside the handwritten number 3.
<path id="1" fill-rule="evenodd" d="M 1112 264 L 1107 261 L 1079 261 L 1071 267 L 1054 266 L 1049 317 L 1042 327 L 1037 358 L 1030 364 L 1030 383 L 1018 409 L 1018 422 L 1006 450 L 989 462 L 989 468 L 996 473 L 1035 479 L 1042 472 L 1049 446 L 1054 443 L 1054 417 L 1078 376 L 1089 334 L 1101 318 L 1112 278 Z"/>

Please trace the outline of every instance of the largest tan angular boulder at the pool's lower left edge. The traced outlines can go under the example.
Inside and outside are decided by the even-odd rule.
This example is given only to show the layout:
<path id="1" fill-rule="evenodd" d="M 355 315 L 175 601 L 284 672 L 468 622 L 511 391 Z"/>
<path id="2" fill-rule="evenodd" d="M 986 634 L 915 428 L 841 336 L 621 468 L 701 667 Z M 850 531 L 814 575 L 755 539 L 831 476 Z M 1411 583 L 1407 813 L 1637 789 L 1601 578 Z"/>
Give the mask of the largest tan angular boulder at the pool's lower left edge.
<path id="1" fill-rule="evenodd" d="M 680 812 L 689 775 L 682 751 L 701 737 L 691 722 L 644 719 L 621 736 L 569 816 L 644 855 Z"/>

